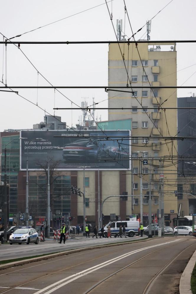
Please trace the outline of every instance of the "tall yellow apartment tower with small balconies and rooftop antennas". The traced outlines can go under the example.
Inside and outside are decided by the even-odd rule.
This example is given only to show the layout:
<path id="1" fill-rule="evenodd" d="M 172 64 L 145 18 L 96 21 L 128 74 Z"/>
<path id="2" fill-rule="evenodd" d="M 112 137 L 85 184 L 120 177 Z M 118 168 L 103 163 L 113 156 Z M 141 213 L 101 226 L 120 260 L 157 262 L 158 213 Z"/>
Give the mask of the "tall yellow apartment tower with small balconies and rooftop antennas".
<path id="1" fill-rule="evenodd" d="M 159 209 L 159 195 L 164 195 L 164 213 L 167 224 L 177 215 L 177 166 L 174 165 L 177 155 L 177 142 L 161 139 L 161 136 L 177 135 L 177 110 L 163 108 L 177 107 L 177 93 L 174 89 L 158 88 L 159 86 L 177 85 L 177 52 L 175 44 L 138 43 L 109 44 L 108 54 L 108 86 L 126 87 L 131 85 L 134 93 L 108 92 L 108 107 L 133 108 L 132 110 L 108 110 L 108 119 L 132 119 L 132 193 L 133 212 L 140 214 L 140 201 L 143 203 L 143 221 L 148 218 L 148 200 L 137 195 L 148 194 L 152 191 L 152 212 Z M 170 47 L 171 46 L 171 47 Z M 141 59 L 140 59 L 141 57 Z M 126 69 L 128 72 L 126 72 Z M 147 88 L 150 85 L 153 89 Z M 138 88 L 138 87 L 142 88 Z M 131 89 L 118 89 L 131 91 Z M 160 110 L 157 108 L 160 107 Z M 143 109 L 138 109 L 143 108 Z M 151 108 L 150 110 L 146 108 Z M 137 136 L 151 136 L 153 139 Z M 148 164 L 143 165 L 143 160 Z M 164 178 L 160 179 L 160 174 Z M 151 186 L 150 186 L 151 185 Z M 161 188 L 161 189 L 160 189 Z"/>

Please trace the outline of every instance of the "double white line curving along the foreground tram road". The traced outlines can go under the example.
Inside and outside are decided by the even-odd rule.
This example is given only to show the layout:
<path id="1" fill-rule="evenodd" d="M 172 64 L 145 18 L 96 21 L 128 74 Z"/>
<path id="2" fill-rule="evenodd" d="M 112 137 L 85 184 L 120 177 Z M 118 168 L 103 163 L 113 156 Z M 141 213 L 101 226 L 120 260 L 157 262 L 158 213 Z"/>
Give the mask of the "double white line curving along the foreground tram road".
<path id="1" fill-rule="evenodd" d="M 150 249 L 150 248 L 158 247 L 158 246 L 161 246 L 161 245 L 166 245 L 166 244 L 174 243 L 174 242 L 177 242 L 179 240 L 180 239 L 176 239 L 174 241 L 165 242 L 165 243 L 161 243 L 161 244 L 157 244 L 157 245 L 152 245 L 152 246 L 148 246 L 148 247 L 145 247 L 145 248 L 137 249 L 137 250 L 134 250 L 134 251 L 131 251 L 131 252 L 122 254 L 122 255 L 117 256 L 117 257 L 115 257 L 113 259 L 110 259 L 110 261 L 104 261 L 104 262 L 102 262 L 100 264 L 95 265 L 94 267 L 90 267 L 90 268 L 85 269 L 85 270 L 83 270 L 81 272 L 78 272 L 77 274 L 72 274 L 71 276 L 66 277 L 66 278 L 64 278 L 64 279 L 62 279 L 62 280 L 60 280 L 58 282 L 55 282 L 55 283 L 53 283 L 53 284 L 51 284 L 51 285 L 49 285 L 49 286 L 41 289 L 40 291 L 35 292 L 34 294 L 40 294 L 40 293 L 50 294 L 50 293 L 58 290 L 59 288 L 61 288 L 61 287 L 65 286 L 65 285 L 73 282 L 74 280 L 77 280 L 80 277 L 84 277 L 85 275 L 90 274 L 91 272 L 94 272 L 94 271 L 96 271 L 98 269 L 101 269 L 102 267 L 105 267 L 106 265 L 108 266 L 109 264 L 112 264 L 112 263 L 114 263 L 114 262 L 116 262 L 116 261 L 118 261 L 120 259 L 123 259 L 125 257 L 128 257 L 128 256 L 130 256 L 132 254 L 138 253 L 138 252 L 143 251 L 143 250 L 146 250 L 146 249 Z M 56 286 L 56 287 L 54 287 L 54 286 Z M 49 290 L 50 288 L 52 288 L 52 289 Z M 45 291 L 47 291 L 47 292 L 45 292 Z"/>

